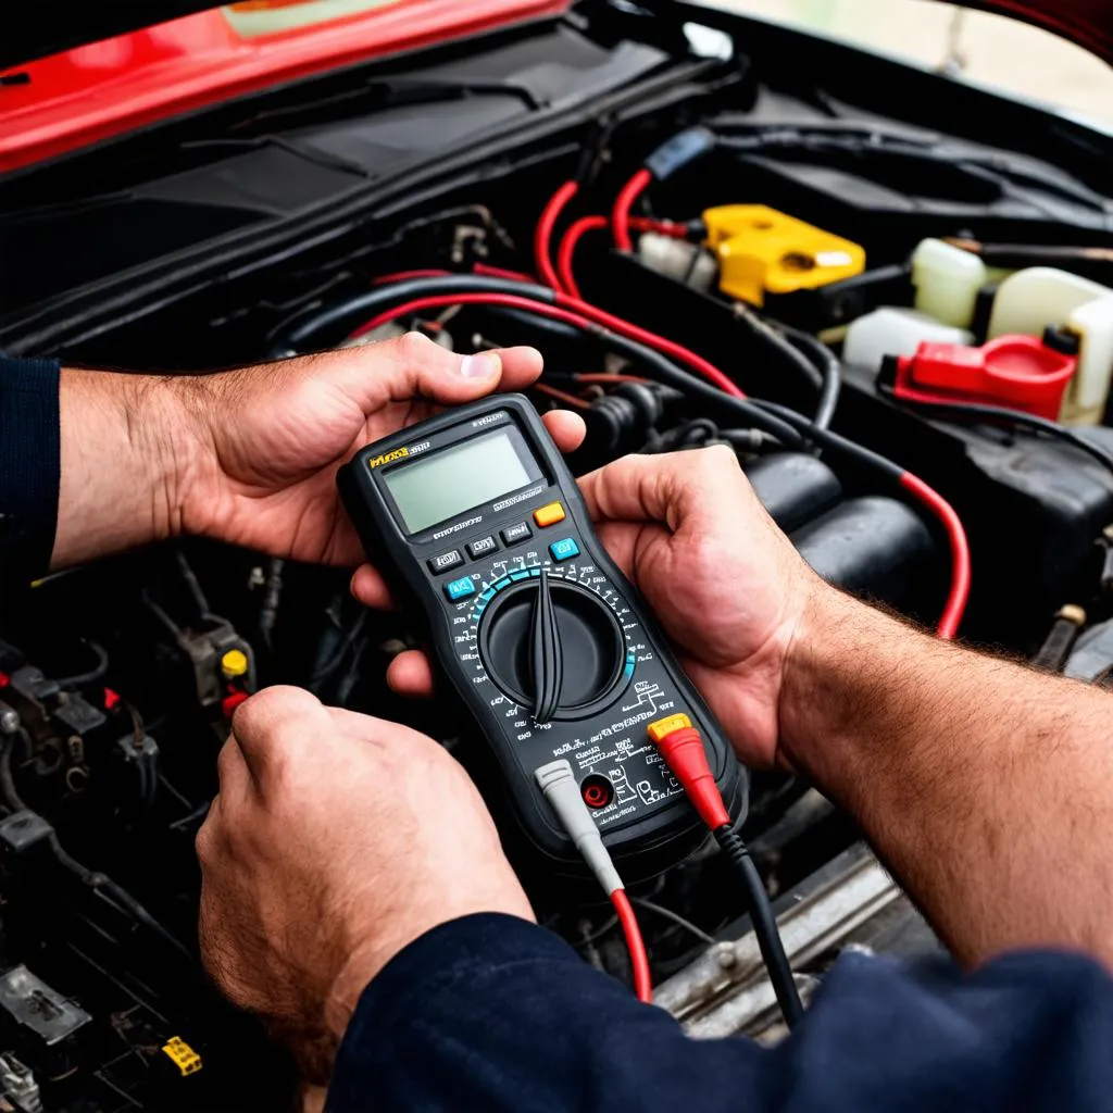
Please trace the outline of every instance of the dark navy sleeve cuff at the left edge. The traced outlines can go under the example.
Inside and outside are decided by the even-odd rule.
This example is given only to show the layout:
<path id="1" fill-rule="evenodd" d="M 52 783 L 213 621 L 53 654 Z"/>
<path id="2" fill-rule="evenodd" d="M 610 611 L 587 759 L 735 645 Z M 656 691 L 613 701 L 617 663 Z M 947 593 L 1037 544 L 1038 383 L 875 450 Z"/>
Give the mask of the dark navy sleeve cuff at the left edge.
<path id="1" fill-rule="evenodd" d="M 61 475 L 59 366 L 0 356 L 0 591 L 45 572 Z"/>

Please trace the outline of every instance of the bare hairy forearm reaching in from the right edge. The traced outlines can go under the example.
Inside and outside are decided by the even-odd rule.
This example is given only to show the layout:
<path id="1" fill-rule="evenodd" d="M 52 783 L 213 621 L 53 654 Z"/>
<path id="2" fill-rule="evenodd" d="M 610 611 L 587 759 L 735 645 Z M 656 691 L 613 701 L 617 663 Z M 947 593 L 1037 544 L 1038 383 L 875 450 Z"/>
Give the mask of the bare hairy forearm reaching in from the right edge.
<path id="1" fill-rule="evenodd" d="M 1113 964 L 1113 699 L 817 592 L 780 700 L 785 756 L 843 804 L 966 962 Z"/>

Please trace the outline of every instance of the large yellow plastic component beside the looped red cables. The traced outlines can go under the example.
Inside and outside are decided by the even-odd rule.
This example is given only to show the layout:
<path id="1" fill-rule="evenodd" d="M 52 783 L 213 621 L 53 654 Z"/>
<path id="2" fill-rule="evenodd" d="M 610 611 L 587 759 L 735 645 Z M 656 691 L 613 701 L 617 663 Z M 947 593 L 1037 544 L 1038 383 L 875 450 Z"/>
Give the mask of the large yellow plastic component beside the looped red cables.
<path id="1" fill-rule="evenodd" d="M 816 289 L 866 269 L 866 252 L 766 205 L 720 205 L 703 214 L 706 244 L 719 259 L 719 289 L 765 305 L 766 294 Z"/>

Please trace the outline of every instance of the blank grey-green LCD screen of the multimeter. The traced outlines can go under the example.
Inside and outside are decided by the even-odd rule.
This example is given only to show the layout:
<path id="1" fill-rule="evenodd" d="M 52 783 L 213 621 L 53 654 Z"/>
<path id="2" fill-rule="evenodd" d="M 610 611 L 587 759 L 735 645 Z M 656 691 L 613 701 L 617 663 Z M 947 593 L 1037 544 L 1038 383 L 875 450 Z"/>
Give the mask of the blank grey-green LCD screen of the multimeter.
<path id="1" fill-rule="evenodd" d="M 531 479 L 505 430 L 392 467 L 383 476 L 410 533 L 516 491 Z"/>

